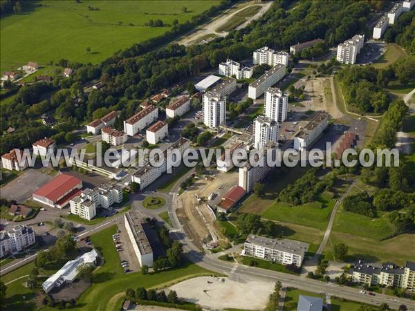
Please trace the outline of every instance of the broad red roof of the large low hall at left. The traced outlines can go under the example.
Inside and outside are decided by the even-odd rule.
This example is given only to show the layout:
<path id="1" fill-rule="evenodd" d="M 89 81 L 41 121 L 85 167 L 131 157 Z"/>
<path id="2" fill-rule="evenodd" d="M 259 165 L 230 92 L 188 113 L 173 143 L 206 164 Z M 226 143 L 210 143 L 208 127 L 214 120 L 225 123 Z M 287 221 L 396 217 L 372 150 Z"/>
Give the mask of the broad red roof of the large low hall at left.
<path id="1" fill-rule="evenodd" d="M 60 174 L 53 178 L 53 180 L 50 180 L 44 187 L 33 192 L 33 196 L 43 196 L 55 202 L 61 196 L 66 194 L 66 192 L 73 190 L 80 183 L 82 183 L 82 180 L 76 177 Z"/>

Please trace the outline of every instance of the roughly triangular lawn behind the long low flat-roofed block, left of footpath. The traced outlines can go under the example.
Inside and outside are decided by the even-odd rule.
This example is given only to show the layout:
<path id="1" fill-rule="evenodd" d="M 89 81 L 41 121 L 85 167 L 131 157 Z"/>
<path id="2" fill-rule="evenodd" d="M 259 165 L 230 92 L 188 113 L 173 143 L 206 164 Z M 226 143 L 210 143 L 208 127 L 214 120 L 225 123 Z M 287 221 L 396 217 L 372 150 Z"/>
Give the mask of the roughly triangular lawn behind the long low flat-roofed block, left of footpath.
<path id="1" fill-rule="evenodd" d="M 262 216 L 270 220 L 326 229 L 334 203 L 334 200 L 325 194 L 320 195 L 314 202 L 298 206 L 291 206 L 285 202 L 275 202 L 262 213 Z"/>

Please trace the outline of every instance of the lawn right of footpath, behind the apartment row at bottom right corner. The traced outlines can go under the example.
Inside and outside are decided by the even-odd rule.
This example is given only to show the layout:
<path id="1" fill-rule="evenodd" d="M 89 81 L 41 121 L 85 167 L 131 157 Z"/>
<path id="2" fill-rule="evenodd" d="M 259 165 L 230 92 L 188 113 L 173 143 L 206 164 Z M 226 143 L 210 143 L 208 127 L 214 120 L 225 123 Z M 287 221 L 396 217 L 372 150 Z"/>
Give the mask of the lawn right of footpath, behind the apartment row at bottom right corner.
<path id="1" fill-rule="evenodd" d="M 369 263 L 393 261 L 397 265 L 405 265 L 406 261 L 413 261 L 415 258 L 414 247 L 408 247 L 414 244 L 414 236 L 415 232 L 408 232 L 385 241 L 376 241 L 369 237 L 332 231 L 324 249 L 324 256 L 326 259 L 333 259 L 331 245 L 346 243 L 349 247 L 347 262 L 354 263 L 362 259 Z"/>

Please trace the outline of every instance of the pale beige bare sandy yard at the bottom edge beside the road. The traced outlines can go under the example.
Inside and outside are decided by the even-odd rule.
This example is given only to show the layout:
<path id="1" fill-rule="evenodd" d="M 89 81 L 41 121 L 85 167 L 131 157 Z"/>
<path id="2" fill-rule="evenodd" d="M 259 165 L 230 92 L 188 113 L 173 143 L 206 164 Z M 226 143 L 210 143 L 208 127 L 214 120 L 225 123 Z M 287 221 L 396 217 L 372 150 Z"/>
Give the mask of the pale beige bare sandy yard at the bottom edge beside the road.
<path id="1" fill-rule="evenodd" d="M 197 303 L 209 310 L 263 310 L 274 290 L 274 283 L 239 283 L 228 278 L 203 276 L 173 285 L 169 290 L 176 290 L 179 298 Z"/>

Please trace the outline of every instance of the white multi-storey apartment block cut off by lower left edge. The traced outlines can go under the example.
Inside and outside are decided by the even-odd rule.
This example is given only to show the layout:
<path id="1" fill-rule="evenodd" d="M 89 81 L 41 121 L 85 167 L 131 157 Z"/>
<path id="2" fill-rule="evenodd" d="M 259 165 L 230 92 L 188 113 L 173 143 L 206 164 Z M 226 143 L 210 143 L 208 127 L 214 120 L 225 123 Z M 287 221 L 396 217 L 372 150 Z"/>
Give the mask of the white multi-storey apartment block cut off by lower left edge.
<path id="1" fill-rule="evenodd" d="M 0 232 L 0 258 L 8 254 L 21 252 L 35 243 L 33 227 L 16 225 L 8 231 Z"/>

